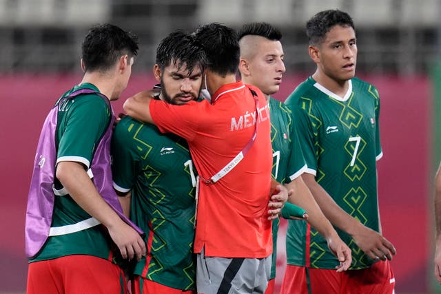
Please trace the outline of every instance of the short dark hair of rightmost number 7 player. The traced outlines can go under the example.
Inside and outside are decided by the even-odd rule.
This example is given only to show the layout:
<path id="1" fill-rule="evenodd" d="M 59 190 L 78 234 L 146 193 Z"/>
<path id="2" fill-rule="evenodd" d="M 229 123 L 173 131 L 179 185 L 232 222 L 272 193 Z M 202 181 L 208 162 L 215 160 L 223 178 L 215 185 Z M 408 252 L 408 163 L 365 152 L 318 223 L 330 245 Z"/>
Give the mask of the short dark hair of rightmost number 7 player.
<path id="1" fill-rule="evenodd" d="M 320 45 L 327 32 L 335 25 L 351 27 L 354 31 L 356 30 L 352 18 L 346 12 L 340 10 L 320 11 L 306 23 L 309 45 Z"/>

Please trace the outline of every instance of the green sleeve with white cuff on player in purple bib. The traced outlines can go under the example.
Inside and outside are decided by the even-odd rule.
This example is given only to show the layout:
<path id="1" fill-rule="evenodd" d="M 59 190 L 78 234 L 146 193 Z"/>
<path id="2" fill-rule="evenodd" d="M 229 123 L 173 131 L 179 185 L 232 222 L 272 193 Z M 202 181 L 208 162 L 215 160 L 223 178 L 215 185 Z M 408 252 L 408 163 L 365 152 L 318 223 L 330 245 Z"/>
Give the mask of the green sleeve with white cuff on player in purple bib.
<path id="1" fill-rule="evenodd" d="M 57 163 L 75 161 L 89 168 L 95 147 L 110 122 L 110 109 L 103 98 L 88 95 L 75 98 L 66 112 L 64 130 L 59 134 Z"/>

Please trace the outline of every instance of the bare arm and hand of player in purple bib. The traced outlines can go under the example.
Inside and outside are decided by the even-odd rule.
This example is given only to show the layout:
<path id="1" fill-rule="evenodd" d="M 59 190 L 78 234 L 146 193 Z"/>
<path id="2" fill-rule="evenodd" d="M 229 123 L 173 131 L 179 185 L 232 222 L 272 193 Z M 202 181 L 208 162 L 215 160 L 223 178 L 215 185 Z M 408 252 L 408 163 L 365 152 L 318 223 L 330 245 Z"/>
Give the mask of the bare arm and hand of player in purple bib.
<path id="1" fill-rule="evenodd" d="M 126 224 L 103 200 L 90 180 L 83 165 L 74 161 L 61 161 L 57 165 L 57 178 L 72 199 L 90 216 L 107 227 L 110 237 L 118 246 L 123 258 L 138 260 L 145 255 L 145 244 L 141 236 Z"/>

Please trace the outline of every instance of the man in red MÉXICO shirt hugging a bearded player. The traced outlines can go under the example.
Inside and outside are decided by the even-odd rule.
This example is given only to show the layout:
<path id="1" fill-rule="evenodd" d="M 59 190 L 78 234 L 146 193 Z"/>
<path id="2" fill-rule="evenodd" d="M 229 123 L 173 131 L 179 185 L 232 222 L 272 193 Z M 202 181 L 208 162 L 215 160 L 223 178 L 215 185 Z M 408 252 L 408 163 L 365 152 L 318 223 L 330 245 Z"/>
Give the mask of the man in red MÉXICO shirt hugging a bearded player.
<path id="1" fill-rule="evenodd" d="M 211 23 L 195 34 L 207 55 L 211 103 L 176 106 L 137 94 L 124 109 L 189 143 L 199 175 L 194 242 L 198 293 L 263 293 L 271 268 L 271 219 L 287 198 L 287 190 L 278 185 L 268 204 L 269 109 L 258 88 L 236 81 L 236 32 Z M 270 217 L 268 205 L 274 208 Z"/>

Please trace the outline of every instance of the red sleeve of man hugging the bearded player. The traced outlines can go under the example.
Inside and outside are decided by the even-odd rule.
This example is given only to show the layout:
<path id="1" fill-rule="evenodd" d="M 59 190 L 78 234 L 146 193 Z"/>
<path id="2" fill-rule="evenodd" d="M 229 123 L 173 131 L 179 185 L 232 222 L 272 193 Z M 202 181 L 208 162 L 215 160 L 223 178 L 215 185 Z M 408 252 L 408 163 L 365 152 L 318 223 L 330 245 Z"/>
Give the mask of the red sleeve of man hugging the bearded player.
<path id="1" fill-rule="evenodd" d="M 198 122 L 205 111 L 207 101 L 190 101 L 185 105 L 172 105 L 165 101 L 152 100 L 150 114 L 154 124 L 163 133 L 173 133 L 187 141 L 192 141 L 198 131 Z"/>

